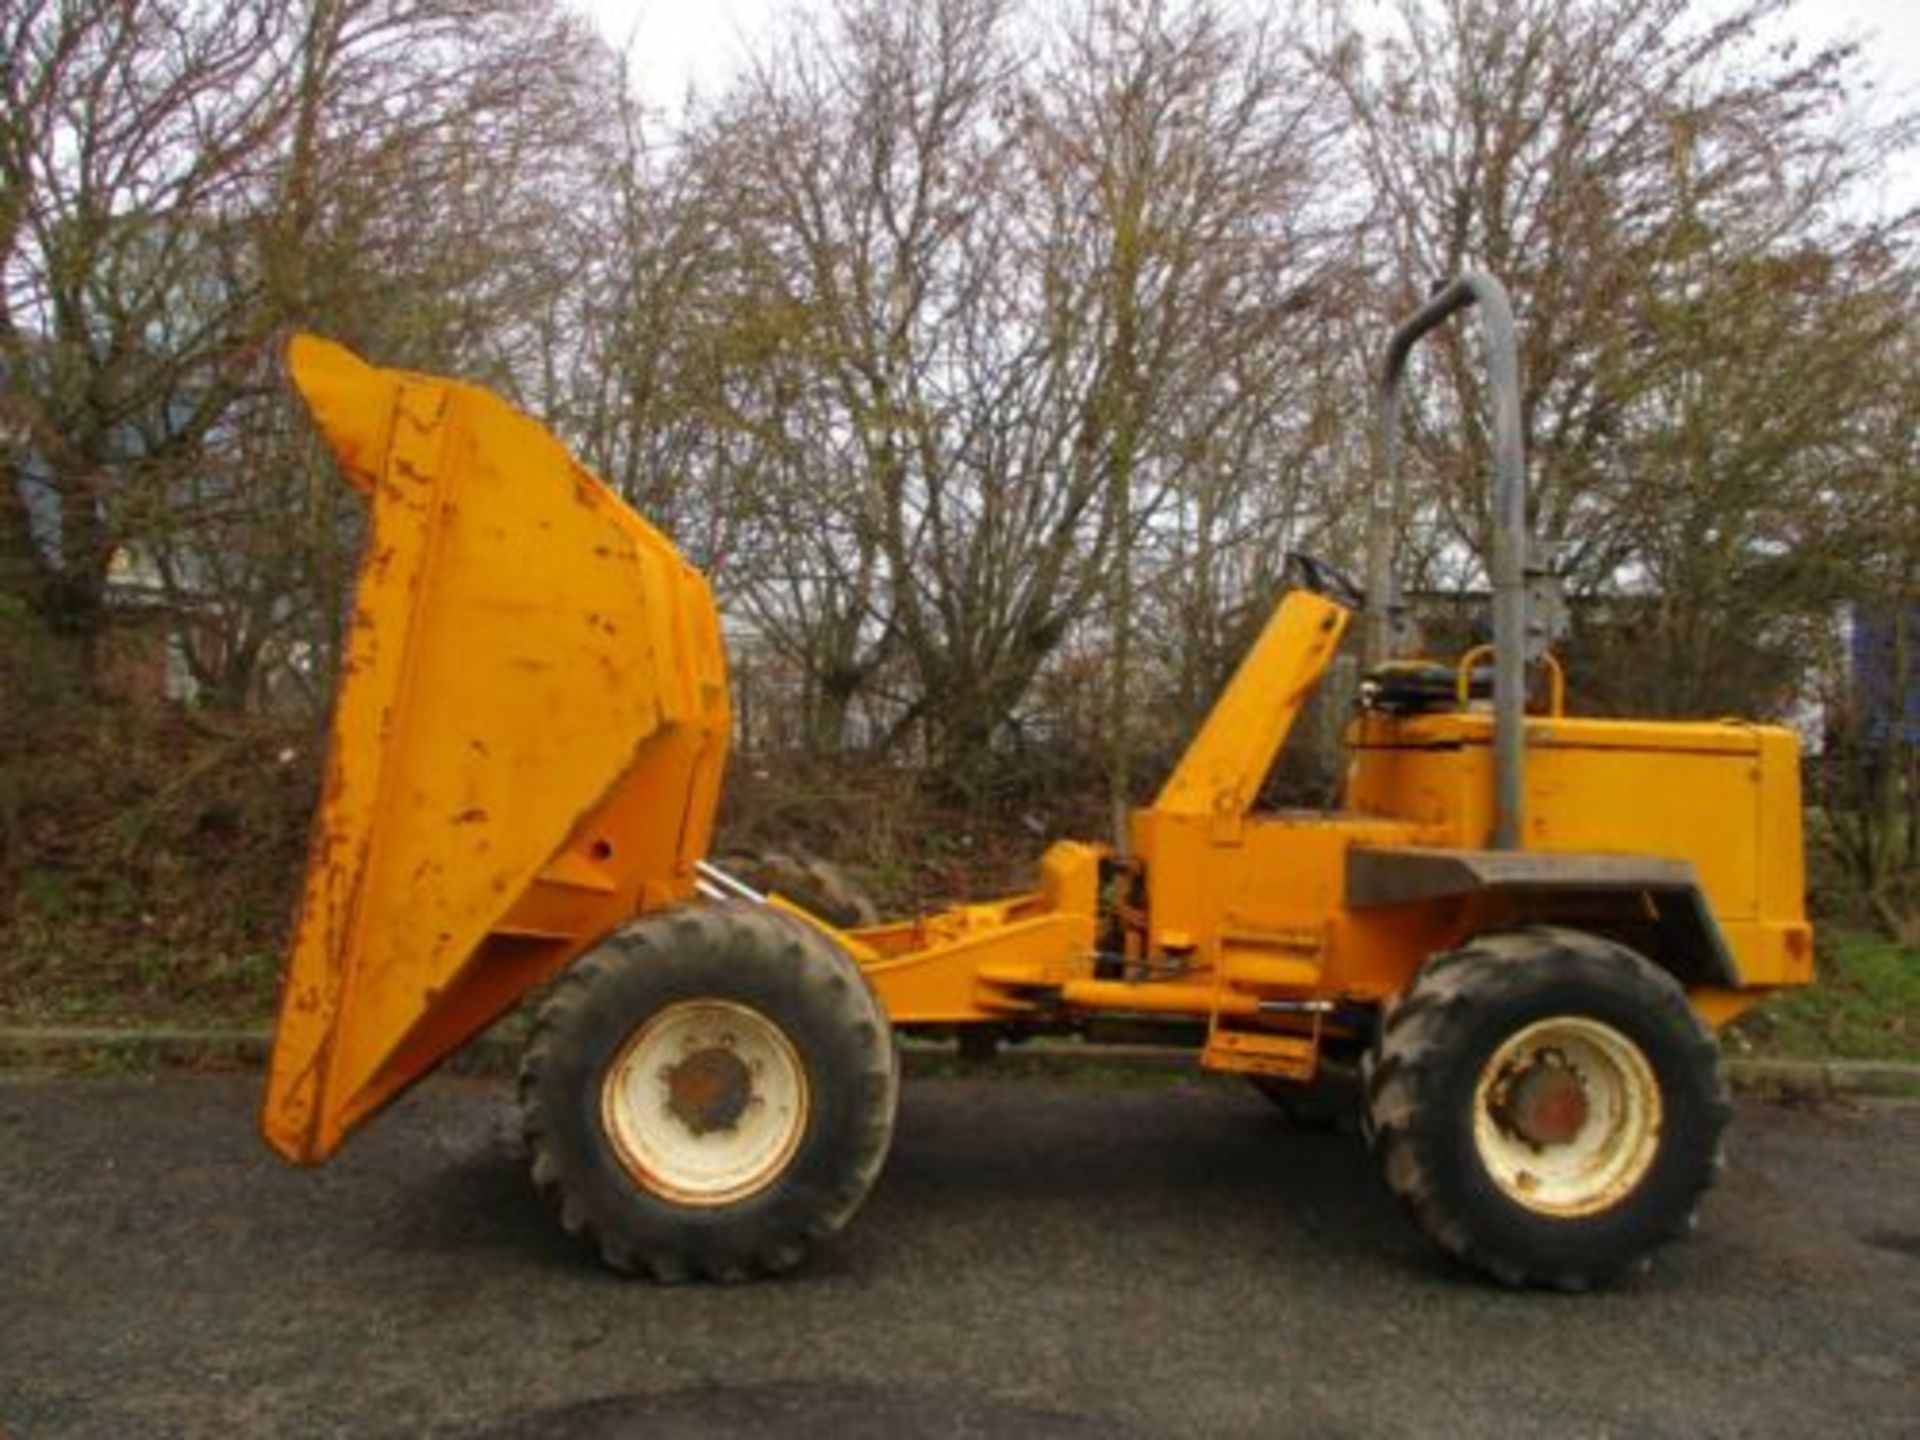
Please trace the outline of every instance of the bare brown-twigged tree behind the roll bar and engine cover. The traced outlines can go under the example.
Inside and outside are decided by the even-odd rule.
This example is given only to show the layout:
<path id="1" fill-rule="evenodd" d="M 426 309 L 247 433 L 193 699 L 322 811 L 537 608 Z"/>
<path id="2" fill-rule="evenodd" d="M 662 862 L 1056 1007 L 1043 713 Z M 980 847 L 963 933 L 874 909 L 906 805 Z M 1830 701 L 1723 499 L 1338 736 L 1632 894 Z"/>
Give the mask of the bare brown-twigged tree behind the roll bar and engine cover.
<path id="1" fill-rule="evenodd" d="M 1855 484 L 1834 461 L 1862 357 L 1899 313 L 1859 290 L 1884 284 L 1903 225 L 1847 217 L 1901 127 L 1857 123 L 1849 48 L 1772 42 L 1782 8 L 1409 2 L 1382 44 L 1336 25 L 1319 52 L 1356 121 L 1390 305 L 1469 263 L 1517 296 L 1536 534 L 1576 591 L 1611 597 L 1609 626 L 1638 624 L 1632 666 L 1590 672 L 1590 701 L 1776 707 L 1782 676 L 1761 670 L 1791 664 L 1793 620 L 1834 599 L 1811 557 Z M 1413 407 L 1413 549 L 1436 588 L 1471 584 L 1486 553 L 1469 336 L 1438 338 L 1444 384 Z"/>

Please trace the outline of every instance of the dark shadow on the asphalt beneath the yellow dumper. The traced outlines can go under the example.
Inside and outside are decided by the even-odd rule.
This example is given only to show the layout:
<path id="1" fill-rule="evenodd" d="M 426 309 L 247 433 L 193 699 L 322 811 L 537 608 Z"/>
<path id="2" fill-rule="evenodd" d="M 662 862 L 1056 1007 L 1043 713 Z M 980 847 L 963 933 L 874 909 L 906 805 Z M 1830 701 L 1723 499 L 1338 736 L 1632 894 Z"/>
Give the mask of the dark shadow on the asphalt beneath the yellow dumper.
<path id="1" fill-rule="evenodd" d="M 397 1196 L 390 1244 L 413 1254 L 616 1281 L 536 1194 L 497 1112 Z M 1004 1244 L 1000 1236 L 1018 1236 Z M 893 1150 L 849 1229 L 774 1284 L 885 1281 L 906 1267 L 1025 1263 L 1091 1271 L 1325 1265 L 1373 1283 L 1484 1284 L 1400 1213 L 1357 1135 L 1300 1127 L 1221 1081 L 1150 1085 L 908 1079 Z"/>

